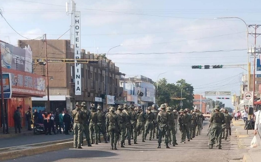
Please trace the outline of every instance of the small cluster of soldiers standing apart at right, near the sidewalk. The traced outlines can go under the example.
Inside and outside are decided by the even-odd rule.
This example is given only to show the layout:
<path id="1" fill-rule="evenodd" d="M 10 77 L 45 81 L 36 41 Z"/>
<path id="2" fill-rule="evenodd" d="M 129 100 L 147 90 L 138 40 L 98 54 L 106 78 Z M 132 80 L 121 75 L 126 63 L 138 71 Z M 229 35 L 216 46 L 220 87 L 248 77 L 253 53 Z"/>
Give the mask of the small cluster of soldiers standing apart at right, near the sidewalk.
<path id="1" fill-rule="evenodd" d="M 227 140 L 228 134 L 231 136 L 231 120 L 232 117 L 228 114 L 227 109 L 220 109 L 219 106 L 215 107 L 209 120 L 209 149 L 212 149 L 215 143 L 218 149 L 222 149 L 221 140 Z"/>

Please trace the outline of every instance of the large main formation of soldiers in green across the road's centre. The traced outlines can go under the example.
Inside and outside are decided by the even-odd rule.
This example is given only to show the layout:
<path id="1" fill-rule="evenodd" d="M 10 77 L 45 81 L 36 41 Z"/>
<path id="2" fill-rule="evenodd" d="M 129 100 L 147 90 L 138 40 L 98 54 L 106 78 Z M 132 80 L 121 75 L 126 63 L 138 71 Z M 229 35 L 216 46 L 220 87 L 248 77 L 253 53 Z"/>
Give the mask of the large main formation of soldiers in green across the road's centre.
<path id="1" fill-rule="evenodd" d="M 97 107 L 97 111 L 95 107 L 91 107 L 89 111 L 86 102 L 81 104 L 77 102 L 76 108 L 72 111 L 73 148 L 82 148 L 83 134 L 85 134 L 87 146 L 92 146 L 94 142 L 95 144 L 100 143 L 100 133 L 102 133 L 104 142 L 108 143 L 107 140 L 110 139 L 111 149 L 117 150 L 116 145 L 117 141 L 119 144 L 119 140 L 121 148 L 125 147 L 126 138 L 128 145 L 131 145 L 132 139 L 133 144 L 137 144 L 138 132 L 142 136 L 141 142 L 145 142 L 147 134 L 149 134 L 149 140 L 156 135 L 157 148 L 161 148 L 163 137 L 165 147 L 169 148 L 169 144 L 177 145 L 175 126 L 179 126 L 181 143 L 184 144 L 186 136 L 187 141 L 190 141 L 199 134 L 204 118 L 197 109 L 191 111 L 181 109 L 177 112 L 167 104 L 161 104 L 159 109 L 153 104 L 145 112 L 140 107 L 125 104 L 119 105 L 117 110 L 115 107 L 110 107 L 108 113 L 105 114 L 100 106 Z"/>

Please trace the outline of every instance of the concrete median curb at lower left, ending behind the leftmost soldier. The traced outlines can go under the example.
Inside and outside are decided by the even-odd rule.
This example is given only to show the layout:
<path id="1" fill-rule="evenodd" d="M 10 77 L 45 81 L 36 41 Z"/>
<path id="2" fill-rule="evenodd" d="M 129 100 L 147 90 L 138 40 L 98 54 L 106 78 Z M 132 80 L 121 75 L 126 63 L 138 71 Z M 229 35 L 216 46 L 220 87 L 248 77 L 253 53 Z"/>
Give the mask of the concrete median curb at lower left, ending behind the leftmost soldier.
<path id="1" fill-rule="evenodd" d="M 104 140 L 104 138 L 102 136 L 101 136 L 101 140 Z M 47 142 L 47 143 L 49 143 L 49 142 Z M 66 148 L 72 148 L 72 146 L 73 146 L 73 141 L 63 142 L 63 143 L 58 143 L 58 144 L 51 144 L 51 145 L 47 145 L 47 146 L 38 146 L 38 147 L 29 148 L 29 149 L 2 152 L 2 153 L 0 153 L 0 161 L 15 159 L 18 157 L 23 157 L 23 156 L 30 156 L 30 155 L 35 155 L 35 154 L 40 154 L 40 153 L 45 153 L 45 152 L 50 152 L 50 151 L 57 151 L 57 150 L 66 149 Z"/>

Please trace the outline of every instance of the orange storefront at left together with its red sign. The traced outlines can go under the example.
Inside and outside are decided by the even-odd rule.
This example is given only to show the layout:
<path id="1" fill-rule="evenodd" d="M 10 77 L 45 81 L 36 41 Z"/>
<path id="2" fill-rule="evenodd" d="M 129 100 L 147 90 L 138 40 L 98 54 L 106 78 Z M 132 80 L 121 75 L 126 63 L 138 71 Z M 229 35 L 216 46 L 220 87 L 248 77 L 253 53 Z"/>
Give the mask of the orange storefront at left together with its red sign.
<path id="1" fill-rule="evenodd" d="M 8 68 L 3 68 L 3 73 L 11 74 L 10 83 L 12 88 L 12 98 L 5 99 L 5 112 L 8 126 L 14 126 L 13 114 L 16 108 L 20 105 L 23 106 L 23 109 L 21 110 L 23 117 L 22 126 L 25 126 L 25 113 L 28 111 L 29 107 L 32 107 L 31 97 L 43 97 L 46 95 L 45 77 Z M 2 121 L 2 119 L 0 121 Z"/>

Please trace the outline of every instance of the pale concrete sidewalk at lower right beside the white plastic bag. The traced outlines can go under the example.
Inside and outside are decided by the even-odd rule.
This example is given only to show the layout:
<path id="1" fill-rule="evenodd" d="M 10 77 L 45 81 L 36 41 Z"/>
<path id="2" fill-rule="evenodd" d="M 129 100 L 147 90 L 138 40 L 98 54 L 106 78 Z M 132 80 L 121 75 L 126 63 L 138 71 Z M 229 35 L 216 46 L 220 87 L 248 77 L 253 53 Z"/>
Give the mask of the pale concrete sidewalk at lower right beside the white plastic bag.
<path id="1" fill-rule="evenodd" d="M 254 130 L 244 130 L 244 121 L 234 121 L 233 120 L 234 128 L 236 129 L 236 137 L 238 140 L 239 148 L 246 148 L 247 152 L 244 154 L 243 162 L 259 162 L 261 161 L 261 140 L 259 135 L 256 135 L 258 141 L 258 147 L 250 148 L 250 143 L 254 137 Z"/>

